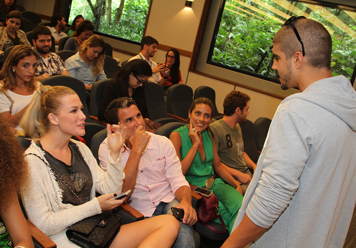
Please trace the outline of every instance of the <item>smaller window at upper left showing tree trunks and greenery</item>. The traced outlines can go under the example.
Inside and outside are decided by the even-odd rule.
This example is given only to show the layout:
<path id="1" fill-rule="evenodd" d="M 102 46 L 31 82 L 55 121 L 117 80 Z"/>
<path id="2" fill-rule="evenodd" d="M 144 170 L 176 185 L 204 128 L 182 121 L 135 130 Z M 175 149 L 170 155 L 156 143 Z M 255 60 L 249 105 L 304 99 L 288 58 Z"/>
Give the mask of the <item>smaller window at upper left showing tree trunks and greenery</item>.
<path id="1" fill-rule="evenodd" d="M 149 7 L 150 0 L 72 0 L 68 23 L 82 15 L 93 22 L 95 31 L 137 43 L 143 37 Z"/>

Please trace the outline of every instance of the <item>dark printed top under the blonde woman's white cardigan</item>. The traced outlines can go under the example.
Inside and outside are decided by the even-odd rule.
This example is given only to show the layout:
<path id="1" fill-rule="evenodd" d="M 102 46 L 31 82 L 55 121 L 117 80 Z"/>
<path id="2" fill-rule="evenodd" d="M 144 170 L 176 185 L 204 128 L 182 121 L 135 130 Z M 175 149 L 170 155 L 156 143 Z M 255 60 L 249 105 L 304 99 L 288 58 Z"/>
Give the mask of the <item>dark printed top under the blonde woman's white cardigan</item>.
<path id="1" fill-rule="evenodd" d="M 37 142 L 36 144 L 43 150 L 40 142 Z M 44 150 L 45 158 L 52 170 L 60 176 L 62 180 L 66 182 L 75 194 L 85 203 L 90 201 L 90 194 L 93 187 L 92 172 L 80 154 L 78 147 L 73 142 L 69 142 L 68 146 L 72 154 L 70 166 L 67 166 L 66 163 L 53 157 L 49 152 Z M 63 191 L 63 203 L 72 205 L 82 204 L 65 183 L 57 177 L 55 177 L 55 180 Z"/>

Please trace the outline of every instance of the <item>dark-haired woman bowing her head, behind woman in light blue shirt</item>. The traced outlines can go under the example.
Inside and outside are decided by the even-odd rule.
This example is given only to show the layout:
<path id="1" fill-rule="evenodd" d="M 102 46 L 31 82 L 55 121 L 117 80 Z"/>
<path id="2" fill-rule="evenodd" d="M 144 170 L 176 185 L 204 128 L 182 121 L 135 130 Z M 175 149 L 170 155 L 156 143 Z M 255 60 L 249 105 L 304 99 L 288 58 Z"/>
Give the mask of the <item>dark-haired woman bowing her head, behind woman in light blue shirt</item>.
<path id="1" fill-rule="evenodd" d="M 89 39 L 94 31 L 94 25 L 90 20 L 83 20 L 77 26 L 73 37 L 69 38 L 64 45 L 63 50 L 78 51 L 81 44 Z"/>

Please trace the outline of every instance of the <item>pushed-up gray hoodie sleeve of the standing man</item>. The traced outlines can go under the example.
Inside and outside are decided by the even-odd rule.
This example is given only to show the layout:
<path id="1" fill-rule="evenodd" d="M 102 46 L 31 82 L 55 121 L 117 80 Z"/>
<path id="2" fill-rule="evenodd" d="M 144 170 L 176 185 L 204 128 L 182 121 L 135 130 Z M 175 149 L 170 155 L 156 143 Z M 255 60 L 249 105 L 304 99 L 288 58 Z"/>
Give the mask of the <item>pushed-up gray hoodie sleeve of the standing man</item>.
<path id="1" fill-rule="evenodd" d="M 274 117 L 264 157 L 260 158 L 261 177 L 246 209 L 251 221 L 263 228 L 272 226 L 288 206 L 314 147 L 311 129 L 295 113 L 285 111 L 285 107 Z"/>

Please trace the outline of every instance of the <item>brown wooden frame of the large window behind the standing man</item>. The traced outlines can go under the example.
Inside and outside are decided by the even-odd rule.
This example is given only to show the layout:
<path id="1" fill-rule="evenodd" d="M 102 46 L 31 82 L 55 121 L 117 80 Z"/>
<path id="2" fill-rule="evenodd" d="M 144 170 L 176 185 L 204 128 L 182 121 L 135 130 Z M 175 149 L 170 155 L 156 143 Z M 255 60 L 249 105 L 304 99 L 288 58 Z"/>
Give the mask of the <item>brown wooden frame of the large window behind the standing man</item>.
<path id="1" fill-rule="evenodd" d="M 356 4 L 355 6 L 346 6 L 341 3 L 339 4 L 339 2 L 341 1 L 342 0 L 334 0 L 334 3 L 325 3 L 318 0 L 315 1 L 303 0 L 299 2 L 304 2 L 309 4 L 318 2 L 318 3 L 322 3 L 324 6 L 327 7 L 338 6 L 338 8 L 340 8 L 340 6 L 342 6 L 346 10 L 353 10 L 353 11 L 356 10 Z M 263 75 L 257 76 L 257 74 L 253 72 L 248 72 L 248 71 L 242 72 L 241 69 L 237 69 L 237 68 L 236 70 L 232 70 L 231 67 L 220 66 L 220 65 L 216 66 L 214 65 L 215 62 L 208 63 L 208 58 L 209 58 L 208 56 L 209 56 L 209 52 L 211 51 L 210 49 L 211 44 L 215 42 L 217 36 L 217 32 L 215 31 L 217 29 L 217 26 L 219 26 L 220 24 L 220 20 L 222 16 L 221 9 L 224 6 L 223 3 L 225 3 L 225 0 L 205 1 L 205 6 L 202 13 L 202 18 L 200 20 L 197 39 L 194 45 L 189 71 L 207 77 L 215 78 L 217 80 L 221 80 L 232 85 L 236 85 L 266 95 L 270 95 L 279 99 L 284 99 L 289 95 L 300 92 L 297 89 L 289 89 L 287 91 L 283 91 L 282 89 L 280 89 L 279 83 L 276 84 L 276 82 L 271 80 L 272 78 Z M 351 77 L 352 85 L 355 77 L 356 77 L 356 70 L 353 71 L 353 75 Z"/>

